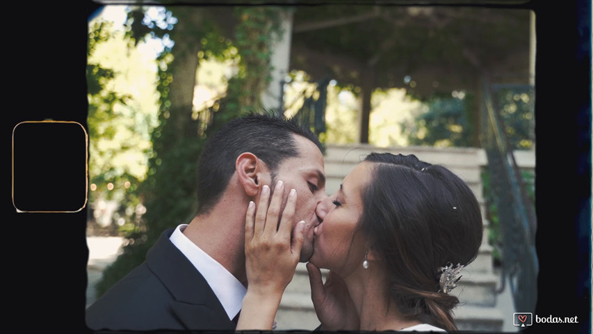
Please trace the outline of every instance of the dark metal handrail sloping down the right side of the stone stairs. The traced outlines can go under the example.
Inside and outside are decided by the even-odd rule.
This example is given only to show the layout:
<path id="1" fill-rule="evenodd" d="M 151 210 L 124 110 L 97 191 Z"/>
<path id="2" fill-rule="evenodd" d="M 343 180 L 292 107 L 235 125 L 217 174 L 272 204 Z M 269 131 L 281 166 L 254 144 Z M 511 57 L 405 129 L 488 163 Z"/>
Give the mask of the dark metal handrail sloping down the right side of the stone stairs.
<path id="1" fill-rule="evenodd" d="M 535 250 L 537 220 L 506 135 L 505 122 L 492 99 L 493 90 L 502 87 L 485 81 L 482 147 L 487 154 L 490 179 L 496 180 L 491 186 L 503 236 L 503 278 L 507 278 L 510 284 L 515 309 L 518 312 L 533 312 L 537 302 L 539 272 Z M 533 91 L 533 86 L 521 88 Z"/>

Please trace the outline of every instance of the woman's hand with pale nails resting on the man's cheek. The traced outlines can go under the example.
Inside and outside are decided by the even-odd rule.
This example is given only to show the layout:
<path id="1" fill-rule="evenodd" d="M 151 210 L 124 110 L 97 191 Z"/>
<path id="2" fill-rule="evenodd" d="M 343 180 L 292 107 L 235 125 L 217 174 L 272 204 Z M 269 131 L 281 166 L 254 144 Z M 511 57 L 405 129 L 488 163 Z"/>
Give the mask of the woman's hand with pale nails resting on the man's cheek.
<path id="1" fill-rule="evenodd" d="M 304 221 L 295 226 L 296 191 L 291 190 L 281 213 L 284 184 L 278 182 L 270 198 L 263 186 L 257 212 L 250 202 L 245 214 L 245 271 L 247 294 L 239 317 L 239 329 L 272 329 L 284 289 L 291 283 L 304 241 Z M 269 208 L 268 208 L 268 202 Z"/>

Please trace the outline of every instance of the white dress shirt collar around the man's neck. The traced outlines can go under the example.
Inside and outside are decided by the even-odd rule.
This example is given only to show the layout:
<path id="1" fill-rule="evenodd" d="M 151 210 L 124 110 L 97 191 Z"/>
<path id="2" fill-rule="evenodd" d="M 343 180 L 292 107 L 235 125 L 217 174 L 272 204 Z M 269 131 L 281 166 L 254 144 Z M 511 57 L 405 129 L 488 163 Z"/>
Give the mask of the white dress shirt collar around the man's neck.
<path id="1" fill-rule="evenodd" d="M 200 271 L 218 297 L 229 319 L 233 319 L 241 310 L 247 288 L 239 282 L 222 264 L 216 262 L 204 250 L 200 249 L 183 234 L 188 224 L 181 224 L 171 234 L 171 242 L 184 253 L 193 266 Z"/>

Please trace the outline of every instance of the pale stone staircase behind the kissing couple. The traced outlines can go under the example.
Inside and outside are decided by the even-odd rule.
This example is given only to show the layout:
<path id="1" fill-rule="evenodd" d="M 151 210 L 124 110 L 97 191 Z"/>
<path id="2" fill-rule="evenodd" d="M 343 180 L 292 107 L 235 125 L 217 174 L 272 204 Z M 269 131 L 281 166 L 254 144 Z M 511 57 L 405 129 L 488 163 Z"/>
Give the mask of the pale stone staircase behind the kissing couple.
<path id="1" fill-rule="evenodd" d="M 415 154 L 416 157 L 431 164 L 441 164 L 465 180 L 482 205 L 485 217 L 485 200 L 482 196 L 480 170 L 486 164 L 482 150 L 474 148 L 375 148 L 369 145 L 328 145 L 325 154 L 325 173 L 328 194 L 339 189 L 343 177 L 350 172 L 368 152 L 391 152 L 394 154 Z M 462 272 L 463 278 L 453 290 L 460 299 L 454 310 L 454 317 L 460 331 L 501 332 L 504 316 L 509 310 L 496 307 L 495 289 L 498 276 L 492 264 L 492 246 L 487 242 L 489 222 L 484 221 L 485 237 L 478 257 Z M 326 271 L 323 271 L 325 274 Z M 512 312 L 512 311 L 510 311 Z M 319 325 L 313 304 L 309 276 L 304 264 L 299 264 L 295 276 L 280 303 L 276 316 L 278 330 L 313 330 Z"/>

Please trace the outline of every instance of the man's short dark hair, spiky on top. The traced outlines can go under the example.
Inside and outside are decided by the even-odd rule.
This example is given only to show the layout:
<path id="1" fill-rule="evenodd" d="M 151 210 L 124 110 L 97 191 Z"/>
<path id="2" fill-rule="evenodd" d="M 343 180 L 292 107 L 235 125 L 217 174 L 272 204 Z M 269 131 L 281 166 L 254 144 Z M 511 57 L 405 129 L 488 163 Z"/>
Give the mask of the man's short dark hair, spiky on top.
<path id="1" fill-rule="evenodd" d="M 255 154 L 273 175 L 284 159 L 298 157 L 293 135 L 309 139 L 323 152 L 317 136 L 294 119 L 251 113 L 223 125 L 206 143 L 197 162 L 197 212 L 209 212 L 216 205 L 241 153 Z"/>

